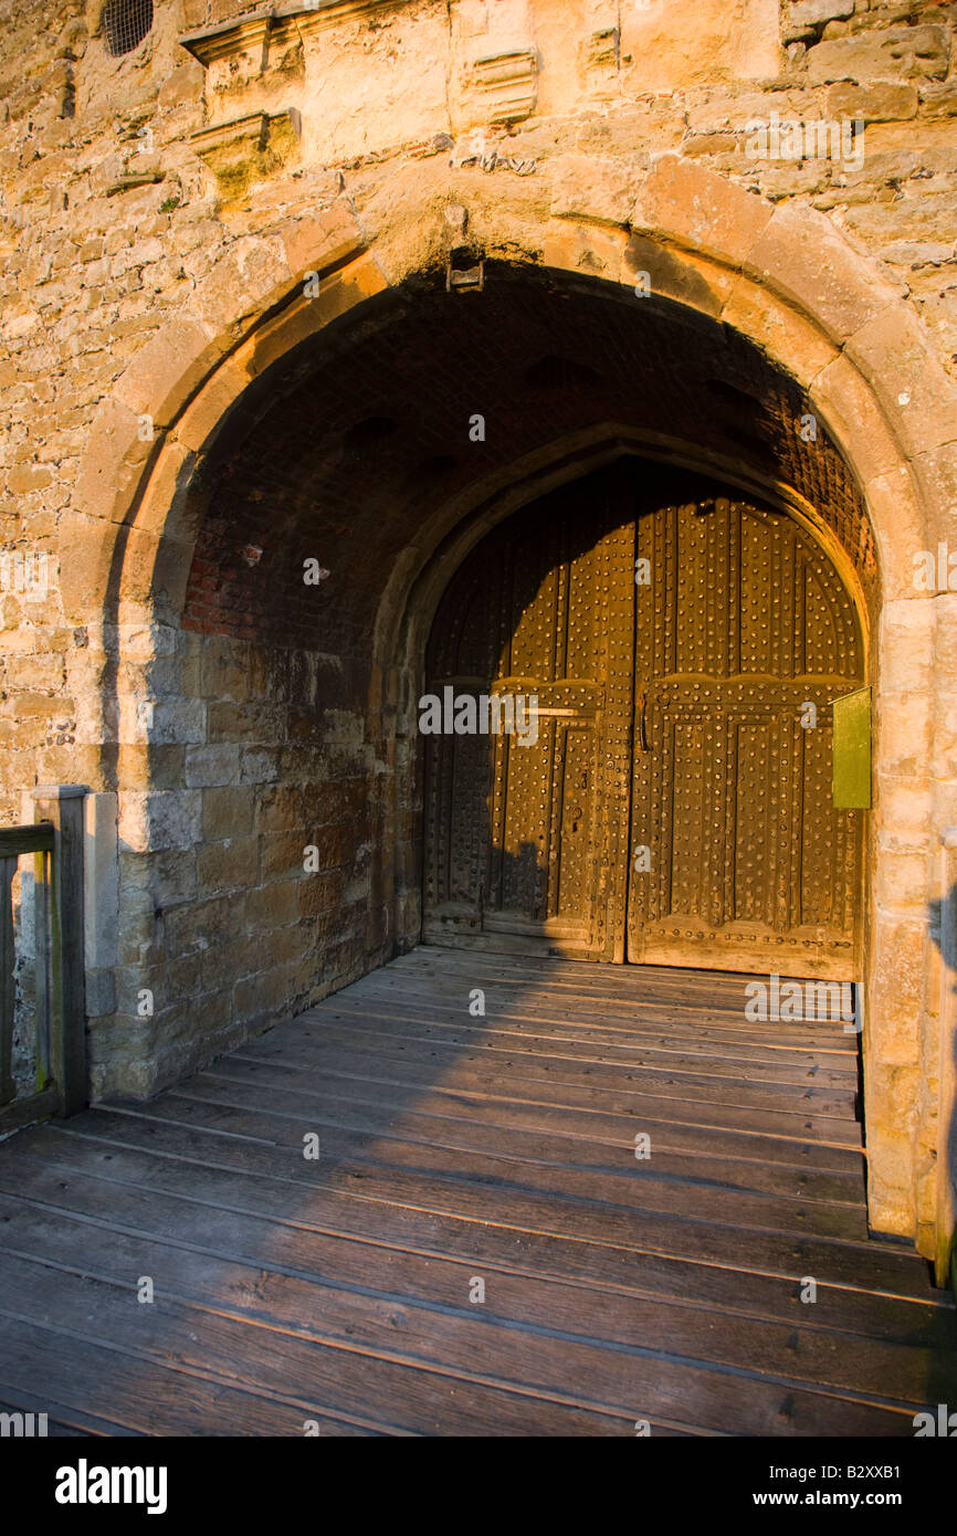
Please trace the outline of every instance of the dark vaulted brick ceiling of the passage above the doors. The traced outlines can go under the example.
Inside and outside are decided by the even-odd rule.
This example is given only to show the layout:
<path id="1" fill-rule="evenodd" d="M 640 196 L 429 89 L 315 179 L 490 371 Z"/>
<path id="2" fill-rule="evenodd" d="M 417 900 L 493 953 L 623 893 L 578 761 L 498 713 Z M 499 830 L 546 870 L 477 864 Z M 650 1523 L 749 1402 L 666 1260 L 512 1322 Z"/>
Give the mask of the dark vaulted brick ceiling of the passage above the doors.
<path id="1" fill-rule="evenodd" d="M 794 487 L 865 588 L 860 498 L 793 379 L 717 321 L 588 278 L 490 264 L 481 293 L 419 278 L 366 303 L 247 393 L 204 468 L 187 628 L 367 653 L 381 593 L 427 518 L 573 433 L 680 439 Z M 470 418 L 485 418 L 473 442 Z M 257 554 L 261 550 L 261 554 Z M 329 570 L 303 584 L 303 562 Z"/>

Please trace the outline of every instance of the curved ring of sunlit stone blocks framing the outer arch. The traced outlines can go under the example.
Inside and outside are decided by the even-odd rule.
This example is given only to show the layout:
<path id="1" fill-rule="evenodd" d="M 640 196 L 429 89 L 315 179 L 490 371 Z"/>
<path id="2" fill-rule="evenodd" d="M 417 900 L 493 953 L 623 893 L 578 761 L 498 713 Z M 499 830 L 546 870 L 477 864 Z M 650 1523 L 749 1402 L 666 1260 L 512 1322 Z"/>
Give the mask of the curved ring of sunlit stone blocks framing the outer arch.
<path id="1" fill-rule="evenodd" d="M 631 284 L 654 269 L 653 292 L 753 339 L 806 390 L 860 482 L 886 573 L 886 594 L 912 596 L 908 539 L 943 536 L 957 482 L 957 389 L 905 296 L 823 214 L 773 204 L 676 155 L 662 157 L 625 209 L 601 161 L 570 157 L 551 214 L 528 232 L 525 260 Z M 584 164 L 581 161 L 585 161 Z M 66 542 L 92 548 L 65 571 L 69 613 L 115 598 L 149 602 L 164 568 L 149 541 L 189 542 L 181 490 L 244 390 L 284 353 L 407 275 L 406 226 L 435 209 L 407 207 L 379 238 L 344 200 L 246 235 L 197 287 L 100 402 L 81 462 Z M 436 224 L 435 260 L 441 258 Z M 318 300 L 303 295 L 318 273 Z M 126 528 L 117 562 L 109 533 Z M 117 582 L 115 567 L 124 570 Z M 108 574 L 109 573 L 109 574 Z"/>

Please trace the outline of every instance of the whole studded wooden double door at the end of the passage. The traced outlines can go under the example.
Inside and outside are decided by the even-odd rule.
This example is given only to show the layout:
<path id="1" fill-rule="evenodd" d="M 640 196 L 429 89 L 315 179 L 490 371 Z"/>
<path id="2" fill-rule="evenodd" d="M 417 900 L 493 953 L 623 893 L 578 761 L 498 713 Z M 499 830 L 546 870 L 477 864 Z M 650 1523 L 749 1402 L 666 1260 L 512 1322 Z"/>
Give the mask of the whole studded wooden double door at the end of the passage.
<path id="1" fill-rule="evenodd" d="M 863 677 L 854 605 L 794 519 L 656 484 L 555 493 L 445 593 L 429 691 L 536 696 L 539 734 L 429 737 L 424 937 L 854 980 L 830 708 Z"/>

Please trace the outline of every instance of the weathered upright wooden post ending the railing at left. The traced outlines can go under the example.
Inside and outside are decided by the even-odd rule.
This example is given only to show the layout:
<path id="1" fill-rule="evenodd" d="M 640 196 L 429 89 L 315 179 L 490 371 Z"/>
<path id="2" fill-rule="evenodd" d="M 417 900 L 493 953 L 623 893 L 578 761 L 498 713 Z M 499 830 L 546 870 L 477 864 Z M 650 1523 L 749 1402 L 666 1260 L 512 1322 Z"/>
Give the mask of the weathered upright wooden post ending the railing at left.
<path id="1" fill-rule="evenodd" d="M 49 929 L 37 932 L 37 1005 L 48 1020 L 49 1074 L 57 1086 L 58 1115 L 75 1115 L 88 1101 L 86 974 L 83 949 L 83 799 L 86 785 L 37 785 L 34 820 L 51 822 L 54 848 L 46 865 Z M 40 957 L 46 949 L 48 963 Z"/>

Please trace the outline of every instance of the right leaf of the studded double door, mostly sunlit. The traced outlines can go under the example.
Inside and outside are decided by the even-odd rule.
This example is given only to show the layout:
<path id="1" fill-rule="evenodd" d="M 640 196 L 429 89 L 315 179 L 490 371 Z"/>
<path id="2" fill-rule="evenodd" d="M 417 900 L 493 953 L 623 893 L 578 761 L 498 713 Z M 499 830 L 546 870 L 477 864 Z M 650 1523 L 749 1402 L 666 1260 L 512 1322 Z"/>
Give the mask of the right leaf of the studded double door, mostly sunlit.
<path id="1" fill-rule="evenodd" d="M 854 605 L 797 522 L 725 498 L 637 522 L 628 958 L 857 975 L 862 811 L 831 802 Z"/>

